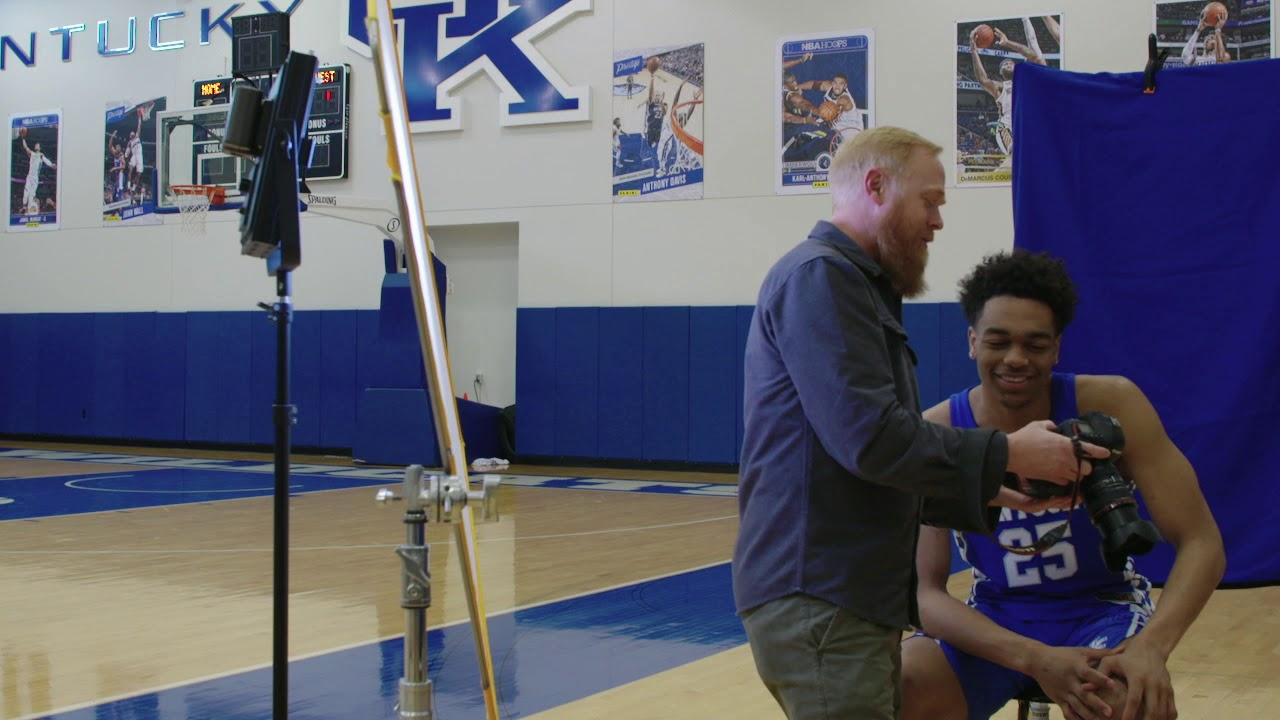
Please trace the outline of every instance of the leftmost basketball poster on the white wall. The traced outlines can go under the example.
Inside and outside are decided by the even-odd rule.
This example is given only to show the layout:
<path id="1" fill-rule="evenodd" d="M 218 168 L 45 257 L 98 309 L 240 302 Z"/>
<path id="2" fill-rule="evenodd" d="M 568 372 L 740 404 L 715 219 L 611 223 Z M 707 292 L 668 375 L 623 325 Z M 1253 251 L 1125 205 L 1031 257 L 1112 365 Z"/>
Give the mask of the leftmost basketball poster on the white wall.
<path id="1" fill-rule="evenodd" d="M 58 229 L 61 110 L 9 115 L 9 232 Z"/>

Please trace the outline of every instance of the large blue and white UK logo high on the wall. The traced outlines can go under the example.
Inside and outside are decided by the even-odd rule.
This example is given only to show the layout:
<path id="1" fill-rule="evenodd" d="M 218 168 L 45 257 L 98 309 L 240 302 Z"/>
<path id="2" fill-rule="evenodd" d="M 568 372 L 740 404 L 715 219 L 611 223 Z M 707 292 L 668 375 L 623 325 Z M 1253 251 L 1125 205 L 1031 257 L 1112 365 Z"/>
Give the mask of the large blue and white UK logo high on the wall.
<path id="1" fill-rule="evenodd" d="M 343 42 L 367 56 L 367 0 L 348 0 L 347 8 Z M 500 88 L 503 126 L 588 119 L 590 87 L 570 86 L 532 44 L 590 10 L 591 0 L 448 0 L 394 8 L 410 128 L 462 128 L 462 100 L 452 91 L 481 72 Z"/>

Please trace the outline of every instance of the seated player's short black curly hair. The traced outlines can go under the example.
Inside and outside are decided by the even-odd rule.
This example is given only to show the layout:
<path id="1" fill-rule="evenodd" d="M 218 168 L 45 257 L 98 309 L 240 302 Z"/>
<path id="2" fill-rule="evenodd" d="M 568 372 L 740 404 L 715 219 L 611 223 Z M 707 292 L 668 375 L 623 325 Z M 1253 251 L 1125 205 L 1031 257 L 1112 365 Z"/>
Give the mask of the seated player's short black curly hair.
<path id="1" fill-rule="evenodd" d="M 1011 295 L 1038 300 L 1053 313 L 1053 329 L 1062 334 L 1075 318 L 1079 299 L 1066 264 L 1047 252 L 997 252 L 960 281 L 960 307 L 970 325 L 978 324 L 982 309 L 992 297 Z"/>

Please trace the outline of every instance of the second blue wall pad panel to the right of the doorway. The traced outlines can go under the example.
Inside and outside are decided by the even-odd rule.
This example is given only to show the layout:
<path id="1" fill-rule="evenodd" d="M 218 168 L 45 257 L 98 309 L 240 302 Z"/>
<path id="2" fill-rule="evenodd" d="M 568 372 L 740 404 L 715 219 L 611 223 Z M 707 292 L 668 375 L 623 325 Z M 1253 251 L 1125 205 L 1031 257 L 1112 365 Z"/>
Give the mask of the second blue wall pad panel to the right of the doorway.
<path id="1" fill-rule="evenodd" d="M 598 454 L 599 318 L 598 307 L 556 309 L 556 455 Z"/>

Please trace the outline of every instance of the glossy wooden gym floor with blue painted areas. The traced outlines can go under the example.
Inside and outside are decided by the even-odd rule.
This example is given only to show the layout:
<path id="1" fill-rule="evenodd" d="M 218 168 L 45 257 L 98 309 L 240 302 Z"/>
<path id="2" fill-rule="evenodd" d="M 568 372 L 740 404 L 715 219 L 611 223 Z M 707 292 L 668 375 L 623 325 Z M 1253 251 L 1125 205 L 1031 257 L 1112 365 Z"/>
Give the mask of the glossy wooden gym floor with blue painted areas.
<path id="1" fill-rule="evenodd" d="M 0 717 L 270 715 L 270 455 L 0 447 Z M 293 462 L 291 719 L 393 719 L 398 470 Z M 782 717 L 732 614 L 733 475 L 504 475 L 477 533 L 503 717 Z M 428 542 L 436 716 L 483 717 L 452 533 Z M 1277 609 L 1213 596 L 1170 662 L 1183 720 L 1276 716 Z"/>

